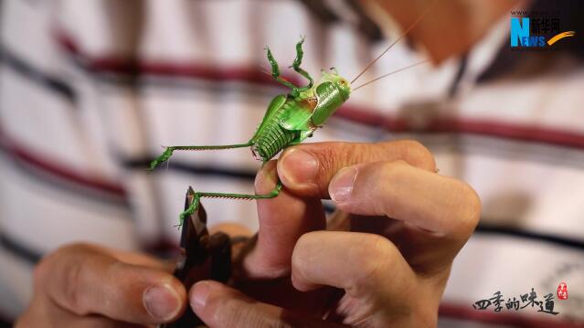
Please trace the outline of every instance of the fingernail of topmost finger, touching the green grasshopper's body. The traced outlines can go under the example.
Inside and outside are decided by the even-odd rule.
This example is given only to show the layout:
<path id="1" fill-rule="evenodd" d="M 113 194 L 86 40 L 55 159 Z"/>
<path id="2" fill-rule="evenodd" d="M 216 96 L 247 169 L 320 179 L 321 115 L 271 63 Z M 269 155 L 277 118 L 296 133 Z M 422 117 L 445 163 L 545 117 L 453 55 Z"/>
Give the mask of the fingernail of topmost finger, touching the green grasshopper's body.
<path id="1" fill-rule="evenodd" d="M 311 183 L 318 171 L 316 158 L 300 149 L 293 148 L 285 153 L 280 161 L 280 173 L 291 184 Z"/>

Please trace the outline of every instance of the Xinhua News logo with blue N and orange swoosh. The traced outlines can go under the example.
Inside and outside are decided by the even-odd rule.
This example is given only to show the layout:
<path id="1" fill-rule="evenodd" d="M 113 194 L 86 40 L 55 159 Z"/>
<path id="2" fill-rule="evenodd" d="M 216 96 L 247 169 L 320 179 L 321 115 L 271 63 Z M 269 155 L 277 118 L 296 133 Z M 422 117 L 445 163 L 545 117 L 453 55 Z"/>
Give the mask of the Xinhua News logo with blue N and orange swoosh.
<path id="1" fill-rule="evenodd" d="M 558 13 L 537 11 L 511 12 L 511 49 L 546 50 L 575 31 L 561 31 Z"/>

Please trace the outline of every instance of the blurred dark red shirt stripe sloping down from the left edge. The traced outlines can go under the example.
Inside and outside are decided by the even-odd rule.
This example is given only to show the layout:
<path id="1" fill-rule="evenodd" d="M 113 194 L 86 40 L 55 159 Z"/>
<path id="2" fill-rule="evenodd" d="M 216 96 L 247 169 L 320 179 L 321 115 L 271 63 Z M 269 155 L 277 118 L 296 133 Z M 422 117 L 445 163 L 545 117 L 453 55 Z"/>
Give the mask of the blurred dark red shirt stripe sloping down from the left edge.
<path id="1" fill-rule="evenodd" d="M 71 183 L 97 189 L 114 196 L 126 196 L 122 185 L 115 184 L 111 181 L 105 181 L 99 177 L 82 175 L 64 164 L 58 164 L 55 161 L 42 158 L 37 154 L 28 151 L 25 147 L 16 144 L 13 140 L 9 140 L 1 130 L 0 139 L 2 140 L 2 147 L 5 148 L 7 153 L 14 156 L 17 160 L 31 165 L 48 175 L 53 175 Z"/>

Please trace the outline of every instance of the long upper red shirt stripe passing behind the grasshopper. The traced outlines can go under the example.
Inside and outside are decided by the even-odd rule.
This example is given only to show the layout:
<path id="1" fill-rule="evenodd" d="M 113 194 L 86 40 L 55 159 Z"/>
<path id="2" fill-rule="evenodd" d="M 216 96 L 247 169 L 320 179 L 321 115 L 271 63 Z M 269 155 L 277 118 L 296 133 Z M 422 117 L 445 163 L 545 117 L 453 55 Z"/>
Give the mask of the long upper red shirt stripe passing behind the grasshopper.
<path id="1" fill-rule="evenodd" d="M 215 68 L 198 63 L 169 63 L 163 61 L 140 61 L 138 63 L 111 56 L 91 58 L 77 46 L 76 42 L 62 30 L 56 37 L 62 48 L 80 57 L 88 69 L 98 72 L 159 74 L 175 77 L 208 79 L 214 81 L 237 80 L 266 85 L 278 85 L 269 75 L 259 69 L 246 67 Z M 299 79 L 286 77 L 298 84 Z M 461 119 L 441 117 L 423 126 L 412 125 L 404 119 L 382 115 L 374 109 L 343 106 L 336 116 L 352 122 L 377 126 L 391 132 L 462 132 L 522 140 L 536 143 L 553 143 L 584 149 L 584 132 L 567 132 L 541 125 L 516 124 L 494 120 Z"/>

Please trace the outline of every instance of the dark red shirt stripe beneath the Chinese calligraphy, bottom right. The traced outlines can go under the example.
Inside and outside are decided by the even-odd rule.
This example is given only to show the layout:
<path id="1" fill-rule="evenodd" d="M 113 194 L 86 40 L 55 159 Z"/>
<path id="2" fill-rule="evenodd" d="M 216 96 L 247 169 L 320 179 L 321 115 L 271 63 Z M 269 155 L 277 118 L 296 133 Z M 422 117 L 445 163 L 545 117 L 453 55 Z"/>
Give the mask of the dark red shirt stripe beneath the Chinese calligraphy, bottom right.
<path id="1" fill-rule="evenodd" d="M 481 323 L 513 325 L 529 328 L 582 328 L 584 323 L 574 323 L 562 320 L 562 313 L 552 316 L 547 313 L 526 315 L 520 312 L 486 312 L 474 310 L 471 305 L 441 303 L 439 310 L 441 317 L 468 320 Z"/>

